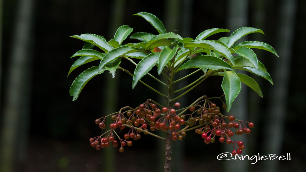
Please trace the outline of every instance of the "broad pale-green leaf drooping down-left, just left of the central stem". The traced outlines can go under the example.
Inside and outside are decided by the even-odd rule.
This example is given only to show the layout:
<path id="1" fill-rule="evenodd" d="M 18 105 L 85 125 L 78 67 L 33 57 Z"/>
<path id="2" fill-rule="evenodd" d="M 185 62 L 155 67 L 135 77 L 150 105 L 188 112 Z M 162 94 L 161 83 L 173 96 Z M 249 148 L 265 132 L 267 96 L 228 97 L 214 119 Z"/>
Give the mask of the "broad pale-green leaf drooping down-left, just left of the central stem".
<path id="1" fill-rule="evenodd" d="M 137 82 L 146 75 L 159 60 L 159 53 L 151 53 L 140 60 L 135 68 L 132 88 L 134 89 Z"/>

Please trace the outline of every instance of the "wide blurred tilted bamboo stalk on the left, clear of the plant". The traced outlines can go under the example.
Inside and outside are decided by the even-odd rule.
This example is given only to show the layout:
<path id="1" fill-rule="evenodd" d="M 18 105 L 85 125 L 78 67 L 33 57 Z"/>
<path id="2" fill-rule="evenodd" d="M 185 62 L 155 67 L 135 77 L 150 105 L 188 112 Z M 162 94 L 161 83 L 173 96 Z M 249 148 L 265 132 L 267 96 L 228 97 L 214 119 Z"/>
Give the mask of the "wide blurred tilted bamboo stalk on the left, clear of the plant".
<path id="1" fill-rule="evenodd" d="M 17 6 L 15 31 L 9 56 L 8 79 L 4 97 L 0 171 L 11 172 L 19 160 L 26 159 L 28 116 L 32 82 L 33 0 Z M 17 139 L 18 138 L 18 139 Z"/>

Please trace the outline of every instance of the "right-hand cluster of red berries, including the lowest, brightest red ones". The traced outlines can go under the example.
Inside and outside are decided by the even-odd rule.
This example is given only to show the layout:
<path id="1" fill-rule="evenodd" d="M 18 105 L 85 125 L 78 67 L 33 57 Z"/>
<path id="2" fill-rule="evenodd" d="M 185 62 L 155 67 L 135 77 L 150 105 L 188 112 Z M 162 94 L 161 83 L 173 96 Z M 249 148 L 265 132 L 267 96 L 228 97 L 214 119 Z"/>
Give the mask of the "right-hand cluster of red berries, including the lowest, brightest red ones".
<path id="1" fill-rule="evenodd" d="M 197 111 L 195 108 L 196 106 L 200 107 Z M 199 125 L 202 127 L 195 129 L 195 133 L 201 134 L 206 144 L 214 143 L 216 136 L 220 136 L 219 142 L 223 143 L 226 137 L 226 144 L 233 145 L 234 150 L 232 151 L 232 154 L 241 154 L 242 150 L 244 149 L 244 145 L 241 141 L 232 141 L 230 139 L 230 137 L 234 136 L 234 133 L 230 128 L 237 129 L 235 131 L 236 135 L 241 135 L 243 133 L 249 134 L 251 132 L 249 128 L 253 128 L 254 124 L 252 122 L 237 120 L 233 115 L 222 115 L 220 113 L 220 107 L 218 107 L 215 103 L 211 103 L 210 101 L 207 101 L 207 104 L 204 103 L 203 106 L 196 106 L 189 108 L 189 110 L 193 113 L 187 114 L 190 115 L 190 117 L 188 121 L 186 121 L 186 125 L 192 126 L 198 121 Z M 226 108 L 226 104 L 223 104 L 222 107 Z M 192 117 L 194 113 L 196 113 L 196 115 L 195 117 Z M 226 122 L 227 120 L 229 122 Z M 234 120 L 238 122 L 236 123 Z M 249 128 L 247 128 L 243 122 L 248 123 Z M 237 148 L 237 151 L 235 150 L 234 146 Z"/>

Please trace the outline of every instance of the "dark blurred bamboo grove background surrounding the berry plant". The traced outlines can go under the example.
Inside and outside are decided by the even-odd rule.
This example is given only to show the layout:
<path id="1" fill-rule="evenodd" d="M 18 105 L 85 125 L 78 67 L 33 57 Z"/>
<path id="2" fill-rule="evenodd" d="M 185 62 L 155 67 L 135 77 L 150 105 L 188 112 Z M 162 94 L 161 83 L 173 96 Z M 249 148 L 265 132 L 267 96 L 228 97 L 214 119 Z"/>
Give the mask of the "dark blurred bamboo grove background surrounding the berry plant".
<path id="1" fill-rule="evenodd" d="M 93 78 L 75 102 L 69 87 L 91 62 L 73 71 L 74 59 L 84 42 L 68 38 L 94 33 L 113 39 L 116 29 L 127 24 L 133 32 L 156 30 L 144 19 L 132 14 L 155 14 L 167 32 L 195 38 L 209 28 L 228 28 L 209 39 L 219 39 L 239 27 L 260 28 L 243 40 L 270 44 L 279 58 L 264 50 L 254 50 L 274 81 L 251 75 L 259 83 L 263 98 L 247 87 L 234 102 L 230 114 L 255 123 L 244 140 L 243 155 L 286 155 L 287 161 L 219 161 L 216 156 L 231 151 L 216 141 L 205 145 L 192 131 L 172 147 L 173 171 L 304 171 L 304 47 L 306 1 L 303 0 L 4 0 L 0 1 L 0 171 L 162 171 L 164 143 L 148 135 L 134 141 L 124 153 L 107 148 L 96 151 L 88 140 L 102 131 L 96 118 L 118 111 L 123 106 L 136 107 L 146 99 L 159 96 L 138 84 L 131 89 L 132 78 L 122 71 L 111 78 L 108 72 Z M 135 43 L 135 40 L 125 40 Z M 121 66 L 133 68 L 122 60 Z M 155 70 L 153 70 L 155 71 Z M 152 72 L 156 74 L 155 72 Z M 182 81 L 181 88 L 196 76 Z M 160 89 L 149 77 L 143 79 Z M 188 106 L 202 95 L 220 96 L 221 77 L 209 78 L 179 99 Z M 162 100 L 161 100 L 162 102 Z M 219 106 L 221 102 L 216 101 Z M 127 131 L 128 132 L 128 131 Z M 156 133 L 156 132 L 155 132 Z M 157 132 L 158 133 L 158 132 Z M 123 133 L 120 133 L 123 135 Z M 160 133 L 159 133 L 160 134 Z"/>

